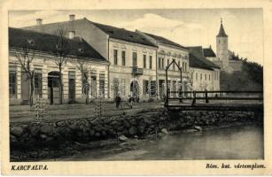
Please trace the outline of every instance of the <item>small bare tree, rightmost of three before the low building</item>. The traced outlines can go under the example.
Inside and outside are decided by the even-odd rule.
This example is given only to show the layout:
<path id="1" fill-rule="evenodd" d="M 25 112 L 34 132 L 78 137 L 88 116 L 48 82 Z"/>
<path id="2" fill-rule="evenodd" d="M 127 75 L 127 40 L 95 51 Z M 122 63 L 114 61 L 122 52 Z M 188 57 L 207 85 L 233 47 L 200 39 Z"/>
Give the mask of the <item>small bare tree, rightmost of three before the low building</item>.
<path id="1" fill-rule="evenodd" d="M 87 61 L 84 58 L 81 57 L 82 53 L 83 53 L 83 50 L 79 49 L 79 53 L 76 56 L 77 57 L 77 65 L 76 65 L 76 67 L 82 73 L 82 83 L 84 83 L 84 86 L 85 86 L 85 87 L 82 86 L 82 89 L 83 89 L 83 91 L 85 91 L 85 94 L 86 94 L 85 104 L 89 104 L 89 88 L 90 88 L 90 84 L 89 84 L 89 72 L 91 71 L 91 68 L 88 65 Z"/>

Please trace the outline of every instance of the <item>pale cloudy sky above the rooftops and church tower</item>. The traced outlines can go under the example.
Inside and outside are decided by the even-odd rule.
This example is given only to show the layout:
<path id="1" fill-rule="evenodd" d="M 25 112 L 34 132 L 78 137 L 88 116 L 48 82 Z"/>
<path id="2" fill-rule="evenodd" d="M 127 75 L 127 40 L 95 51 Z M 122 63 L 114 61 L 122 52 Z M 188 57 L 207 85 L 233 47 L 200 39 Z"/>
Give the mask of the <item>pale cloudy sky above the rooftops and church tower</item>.
<path id="1" fill-rule="evenodd" d="M 73 10 L 73 11 L 10 11 L 10 27 L 27 27 L 43 19 L 43 24 L 75 19 L 136 29 L 160 35 L 183 46 L 212 46 L 220 21 L 229 35 L 229 50 L 239 57 L 263 65 L 263 19 L 258 8 L 238 9 L 136 9 L 136 10 Z"/>

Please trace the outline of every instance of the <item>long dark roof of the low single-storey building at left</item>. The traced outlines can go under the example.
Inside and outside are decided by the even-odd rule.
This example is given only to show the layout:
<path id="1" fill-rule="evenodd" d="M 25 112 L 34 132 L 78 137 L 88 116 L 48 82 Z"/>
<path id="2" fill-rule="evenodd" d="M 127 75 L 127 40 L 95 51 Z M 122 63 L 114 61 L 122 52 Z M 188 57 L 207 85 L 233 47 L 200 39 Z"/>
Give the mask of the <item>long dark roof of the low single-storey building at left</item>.
<path id="1" fill-rule="evenodd" d="M 9 27 L 9 47 L 22 48 L 27 41 L 35 43 L 35 50 L 51 53 L 53 43 L 56 42 L 57 35 L 39 33 L 35 31 Z M 89 43 L 83 39 L 67 39 L 69 55 L 76 56 L 79 49 L 82 49 L 81 57 L 96 61 L 106 61 L 97 50 L 93 49 Z"/>

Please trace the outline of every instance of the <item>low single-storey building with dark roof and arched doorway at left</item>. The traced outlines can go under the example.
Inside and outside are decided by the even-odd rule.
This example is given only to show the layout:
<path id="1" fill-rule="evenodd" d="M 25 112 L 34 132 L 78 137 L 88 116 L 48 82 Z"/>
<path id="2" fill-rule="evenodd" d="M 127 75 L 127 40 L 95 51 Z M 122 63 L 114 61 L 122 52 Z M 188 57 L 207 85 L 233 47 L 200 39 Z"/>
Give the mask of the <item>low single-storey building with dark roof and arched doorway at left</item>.
<path id="1" fill-rule="evenodd" d="M 25 29 L 9 28 L 9 89 L 10 104 L 28 104 L 30 80 L 27 63 L 34 71 L 34 99 L 44 98 L 50 104 L 59 104 L 59 76 L 63 80 L 63 103 L 84 102 L 84 84 L 79 63 L 88 70 L 91 96 L 106 89 L 108 61 L 82 38 L 67 39 L 69 52 L 59 73 L 58 58 L 52 49 L 56 47 L 57 35 L 50 35 Z M 31 47 L 27 47 L 31 46 Z M 80 56 L 78 55 L 80 51 Z M 80 62 L 79 62 L 80 61 Z M 29 70 L 28 70 L 29 71 Z"/>

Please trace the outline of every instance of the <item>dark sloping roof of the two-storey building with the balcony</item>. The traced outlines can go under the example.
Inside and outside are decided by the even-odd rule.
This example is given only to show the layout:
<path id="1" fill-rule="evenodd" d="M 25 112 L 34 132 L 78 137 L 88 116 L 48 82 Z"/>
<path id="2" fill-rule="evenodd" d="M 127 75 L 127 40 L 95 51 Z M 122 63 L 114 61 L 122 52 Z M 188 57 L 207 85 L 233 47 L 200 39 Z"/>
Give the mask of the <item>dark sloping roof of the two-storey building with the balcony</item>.
<path id="1" fill-rule="evenodd" d="M 104 24 L 100 24 L 100 23 L 96 23 L 92 21 L 89 21 L 89 22 L 94 24 L 96 27 L 104 31 L 107 35 L 115 39 L 120 39 L 127 42 L 136 42 L 136 43 L 141 43 L 141 44 L 152 46 L 152 47 L 157 47 L 152 42 L 149 42 L 142 35 L 139 35 L 136 32 L 128 31 L 124 28 L 112 27 L 112 26 L 108 26 L 108 25 L 104 25 Z"/>

